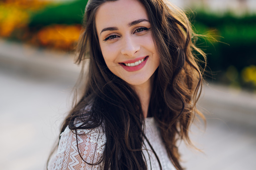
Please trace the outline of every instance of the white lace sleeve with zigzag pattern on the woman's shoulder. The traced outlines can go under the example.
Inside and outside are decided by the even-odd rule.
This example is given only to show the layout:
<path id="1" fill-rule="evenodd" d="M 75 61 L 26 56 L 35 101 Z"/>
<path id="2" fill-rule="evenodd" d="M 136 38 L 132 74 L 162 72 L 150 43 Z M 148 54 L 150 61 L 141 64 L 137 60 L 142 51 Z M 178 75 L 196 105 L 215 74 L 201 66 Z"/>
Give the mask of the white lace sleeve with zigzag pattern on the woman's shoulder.
<path id="1" fill-rule="evenodd" d="M 88 170 L 88 169 L 103 169 L 103 162 L 97 165 L 88 163 L 96 163 L 101 159 L 105 148 L 106 135 L 102 128 L 95 129 L 78 129 L 76 135 L 68 127 L 60 134 L 60 141 L 57 152 L 51 157 L 48 169 L 49 170 Z M 80 157 L 77 149 L 80 152 Z"/>

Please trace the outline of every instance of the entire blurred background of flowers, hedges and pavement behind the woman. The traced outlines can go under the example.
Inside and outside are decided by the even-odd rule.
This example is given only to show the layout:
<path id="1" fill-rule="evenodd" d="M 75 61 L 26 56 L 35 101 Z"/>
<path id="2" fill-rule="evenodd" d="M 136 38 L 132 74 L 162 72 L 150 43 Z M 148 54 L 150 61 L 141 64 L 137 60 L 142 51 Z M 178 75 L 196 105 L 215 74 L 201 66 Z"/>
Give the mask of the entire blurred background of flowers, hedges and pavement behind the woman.
<path id="1" fill-rule="evenodd" d="M 256 169 L 256 1 L 169 0 L 208 54 L 192 126 L 203 153 L 181 143 L 187 169 Z M 87 0 L 0 0 L 0 169 L 45 169 L 71 107 L 73 64 Z"/>

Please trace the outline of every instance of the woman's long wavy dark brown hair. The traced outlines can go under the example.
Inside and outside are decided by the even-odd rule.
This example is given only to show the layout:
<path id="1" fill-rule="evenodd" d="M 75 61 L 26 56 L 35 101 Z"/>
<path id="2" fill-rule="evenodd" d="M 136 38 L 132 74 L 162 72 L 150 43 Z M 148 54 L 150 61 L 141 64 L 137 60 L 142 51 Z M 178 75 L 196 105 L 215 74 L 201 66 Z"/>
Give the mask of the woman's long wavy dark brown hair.
<path id="1" fill-rule="evenodd" d="M 102 159 L 97 163 L 104 161 L 104 169 L 147 169 L 142 146 L 143 139 L 148 140 L 143 130 L 144 116 L 139 97 L 108 69 L 96 33 L 97 9 L 111 1 L 91 0 L 87 5 L 76 59 L 76 63 L 81 63 L 84 68 L 89 57 L 87 80 L 79 100 L 63 122 L 61 132 L 66 126 L 71 130 L 102 126 L 107 141 Z M 205 54 L 193 43 L 197 35 L 181 10 L 163 0 L 139 1 L 147 10 L 160 58 L 148 114 L 159 126 L 169 158 L 177 169 L 183 169 L 177 140 L 191 144 L 190 125 L 197 115 L 203 117 L 196 108 L 203 79 L 195 53 L 204 58 Z M 80 80 L 85 77 L 82 73 L 83 69 Z M 84 109 L 86 107 L 90 110 Z M 77 126 L 76 120 L 83 123 Z M 157 160 L 160 165 L 158 157 Z"/>

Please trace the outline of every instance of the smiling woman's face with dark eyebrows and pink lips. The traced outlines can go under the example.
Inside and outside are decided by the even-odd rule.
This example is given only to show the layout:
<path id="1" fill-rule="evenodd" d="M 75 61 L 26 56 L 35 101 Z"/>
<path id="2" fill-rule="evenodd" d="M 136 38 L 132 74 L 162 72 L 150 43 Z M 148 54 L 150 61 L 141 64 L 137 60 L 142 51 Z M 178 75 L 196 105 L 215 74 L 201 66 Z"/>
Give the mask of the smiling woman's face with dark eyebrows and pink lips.
<path id="1" fill-rule="evenodd" d="M 145 7 L 137 0 L 107 2 L 96 13 L 96 28 L 110 71 L 130 85 L 150 82 L 159 56 Z"/>

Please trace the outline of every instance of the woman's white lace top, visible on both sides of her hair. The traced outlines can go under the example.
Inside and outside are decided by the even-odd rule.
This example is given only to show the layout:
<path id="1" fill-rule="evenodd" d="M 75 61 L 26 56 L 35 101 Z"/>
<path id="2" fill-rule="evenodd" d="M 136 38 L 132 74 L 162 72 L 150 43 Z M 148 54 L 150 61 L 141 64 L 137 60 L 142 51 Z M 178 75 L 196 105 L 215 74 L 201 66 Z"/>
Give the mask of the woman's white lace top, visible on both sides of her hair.
<path id="1" fill-rule="evenodd" d="M 176 169 L 170 159 L 168 158 L 167 152 L 163 143 L 161 141 L 159 130 L 156 126 L 154 118 L 145 119 L 145 135 L 148 138 L 150 144 L 154 148 L 160 162 L 162 169 L 174 170 Z M 80 155 L 87 162 L 98 162 L 104 151 L 106 136 L 102 132 L 102 129 L 80 129 L 77 130 L 78 148 Z M 65 169 L 75 169 L 75 170 L 89 170 L 89 169 L 103 169 L 103 162 L 98 165 L 90 165 L 84 162 L 79 156 L 76 143 L 76 135 L 68 128 L 60 134 L 60 141 L 57 152 L 51 157 L 48 165 L 49 170 L 65 170 Z M 157 159 L 153 152 L 150 151 L 150 147 L 147 142 L 145 142 L 145 147 L 149 150 L 149 155 L 146 150 L 143 153 L 146 158 L 146 163 L 148 169 L 150 169 L 150 161 L 152 169 L 160 169 Z"/>

